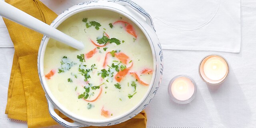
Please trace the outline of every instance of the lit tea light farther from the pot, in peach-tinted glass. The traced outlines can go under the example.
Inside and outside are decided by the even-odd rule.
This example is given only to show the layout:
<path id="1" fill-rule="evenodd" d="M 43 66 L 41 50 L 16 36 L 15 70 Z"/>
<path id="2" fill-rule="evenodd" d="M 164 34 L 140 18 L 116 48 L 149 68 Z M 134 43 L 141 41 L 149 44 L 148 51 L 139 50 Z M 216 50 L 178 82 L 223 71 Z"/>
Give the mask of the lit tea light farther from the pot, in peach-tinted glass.
<path id="1" fill-rule="evenodd" d="M 228 62 L 219 55 L 206 56 L 199 65 L 200 77 L 207 84 L 221 84 L 228 76 L 228 72 Z"/>

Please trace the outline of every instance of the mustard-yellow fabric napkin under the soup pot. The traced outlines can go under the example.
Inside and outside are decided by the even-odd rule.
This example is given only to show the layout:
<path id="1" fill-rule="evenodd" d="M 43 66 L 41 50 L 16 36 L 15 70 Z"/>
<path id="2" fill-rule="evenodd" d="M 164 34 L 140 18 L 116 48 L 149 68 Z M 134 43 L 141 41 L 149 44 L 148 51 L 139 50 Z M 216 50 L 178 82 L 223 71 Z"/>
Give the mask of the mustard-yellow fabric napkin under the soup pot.
<path id="1" fill-rule="evenodd" d="M 50 24 L 57 16 L 39 0 L 6 0 L 6 2 L 46 24 Z M 38 48 L 43 35 L 5 18 L 4 22 L 15 49 L 5 113 L 8 114 L 8 118 L 27 121 L 28 128 L 56 125 L 48 112 L 37 70 Z M 60 112 L 56 112 L 65 120 L 72 121 Z M 146 121 L 146 113 L 142 111 L 134 118 L 111 128 L 146 128 Z"/>

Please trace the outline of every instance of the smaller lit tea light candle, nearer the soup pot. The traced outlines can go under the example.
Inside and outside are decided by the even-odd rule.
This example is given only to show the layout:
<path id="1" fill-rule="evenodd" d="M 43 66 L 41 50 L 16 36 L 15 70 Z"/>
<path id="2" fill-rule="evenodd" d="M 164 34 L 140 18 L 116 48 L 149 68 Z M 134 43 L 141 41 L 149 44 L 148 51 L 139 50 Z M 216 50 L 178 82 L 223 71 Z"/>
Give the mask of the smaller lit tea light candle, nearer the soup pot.
<path id="1" fill-rule="evenodd" d="M 189 76 L 175 76 L 169 83 L 168 93 L 174 102 L 186 104 L 194 99 L 196 94 L 196 84 Z"/>

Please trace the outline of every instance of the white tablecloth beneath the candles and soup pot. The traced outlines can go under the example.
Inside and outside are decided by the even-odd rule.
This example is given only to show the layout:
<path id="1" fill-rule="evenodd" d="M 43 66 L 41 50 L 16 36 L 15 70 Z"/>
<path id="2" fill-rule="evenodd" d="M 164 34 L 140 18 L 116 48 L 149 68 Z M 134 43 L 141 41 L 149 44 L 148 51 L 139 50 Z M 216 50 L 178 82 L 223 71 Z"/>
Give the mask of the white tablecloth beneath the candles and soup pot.
<path id="1" fill-rule="evenodd" d="M 82 0 L 76 0 L 79 3 Z M 136 0 L 135 0 L 136 1 Z M 42 0 L 60 14 L 68 0 Z M 74 2 L 73 2 L 74 3 Z M 1 19 L 1 18 L 0 18 Z M 146 108 L 148 128 L 255 128 L 256 127 L 256 0 L 241 0 L 242 48 L 227 52 L 164 50 L 164 77 Z M 0 104 L 1 128 L 26 128 L 4 114 L 14 48 L 0 20 Z M 208 54 L 221 54 L 230 64 L 230 75 L 221 86 L 207 86 L 198 75 L 198 64 Z M 196 98 L 189 104 L 170 101 L 167 85 L 178 74 L 192 76 L 198 85 Z M 58 126 L 60 127 L 60 126 Z"/>

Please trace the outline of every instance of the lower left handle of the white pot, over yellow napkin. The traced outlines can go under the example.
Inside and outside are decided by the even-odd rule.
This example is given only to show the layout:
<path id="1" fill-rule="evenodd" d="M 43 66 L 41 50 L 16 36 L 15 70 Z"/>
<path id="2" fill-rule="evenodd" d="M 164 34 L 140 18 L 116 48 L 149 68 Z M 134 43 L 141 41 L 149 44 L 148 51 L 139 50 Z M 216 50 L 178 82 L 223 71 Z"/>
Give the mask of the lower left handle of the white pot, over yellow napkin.
<path id="1" fill-rule="evenodd" d="M 47 99 L 48 102 L 48 109 L 49 109 L 49 113 L 50 116 L 53 118 L 53 120 L 55 120 L 58 124 L 60 124 L 61 126 L 65 127 L 65 128 L 81 128 L 81 127 L 88 127 L 89 125 L 84 125 L 81 124 L 79 122 L 67 122 L 66 120 L 62 119 L 58 114 L 56 114 L 56 112 L 54 111 L 55 107 L 54 105 Z"/>

